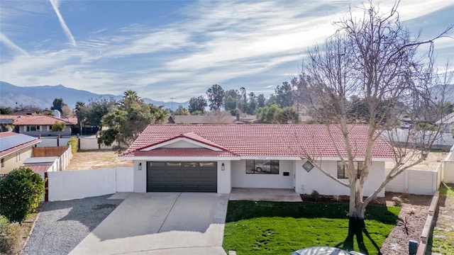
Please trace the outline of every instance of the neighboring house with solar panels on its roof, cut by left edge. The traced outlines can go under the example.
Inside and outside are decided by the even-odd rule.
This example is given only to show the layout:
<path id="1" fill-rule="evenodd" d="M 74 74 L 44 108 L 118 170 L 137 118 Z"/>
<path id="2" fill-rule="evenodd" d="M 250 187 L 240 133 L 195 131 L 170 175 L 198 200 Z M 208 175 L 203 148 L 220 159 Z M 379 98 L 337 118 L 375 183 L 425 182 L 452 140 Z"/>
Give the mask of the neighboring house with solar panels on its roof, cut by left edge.
<path id="1" fill-rule="evenodd" d="M 16 132 L 0 132 L 0 174 L 7 174 L 23 166 L 23 162 L 33 156 L 32 147 L 41 140 Z"/>

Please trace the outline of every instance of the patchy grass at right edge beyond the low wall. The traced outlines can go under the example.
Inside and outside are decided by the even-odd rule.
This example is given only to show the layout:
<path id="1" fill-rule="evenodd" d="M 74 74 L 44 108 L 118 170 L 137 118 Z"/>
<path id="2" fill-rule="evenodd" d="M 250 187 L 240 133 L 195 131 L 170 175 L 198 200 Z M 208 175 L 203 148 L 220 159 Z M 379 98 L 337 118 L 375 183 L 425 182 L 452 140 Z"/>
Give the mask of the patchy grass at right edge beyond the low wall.
<path id="1" fill-rule="evenodd" d="M 454 183 L 441 183 L 440 185 L 440 199 L 450 200 L 454 202 Z M 446 198 L 443 198 L 445 196 Z M 453 222 L 441 222 L 437 220 L 436 227 L 433 229 L 431 242 L 432 252 L 440 254 L 454 254 L 454 231 L 452 230 Z"/>

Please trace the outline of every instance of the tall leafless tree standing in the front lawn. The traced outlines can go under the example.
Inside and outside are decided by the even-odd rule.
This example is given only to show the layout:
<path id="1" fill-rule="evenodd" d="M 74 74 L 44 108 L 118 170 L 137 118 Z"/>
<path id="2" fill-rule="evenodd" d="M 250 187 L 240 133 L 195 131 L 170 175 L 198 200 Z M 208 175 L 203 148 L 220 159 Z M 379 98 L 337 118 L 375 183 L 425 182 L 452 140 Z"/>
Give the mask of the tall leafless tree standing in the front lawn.
<path id="1" fill-rule="evenodd" d="M 311 113 L 316 120 L 326 125 L 328 135 L 332 130 L 341 130 L 345 152 L 341 153 L 333 139 L 333 147 L 345 167 L 348 181 L 337 179 L 317 164 L 316 155 L 310 152 L 301 154 L 323 174 L 350 188 L 350 219 L 348 239 L 353 244 L 356 235 L 360 249 L 362 231 L 365 230 L 365 210 L 389 181 L 405 169 L 419 164 L 425 159 L 433 142 L 440 137 L 439 129 L 424 126 L 412 130 L 400 130 L 399 118 L 411 115 L 414 120 L 431 123 L 441 118 L 438 106 L 443 105 L 443 97 L 433 94 L 433 42 L 453 28 L 448 27 L 436 38 L 421 41 L 411 38 L 409 32 L 399 22 L 397 7 L 399 1 L 388 12 L 370 1 L 362 6 L 362 16 L 351 11 L 336 23 L 337 32 L 309 50 L 309 60 L 305 61 L 303 75 L 307 79 Z M 421 45 L 428 45 L 428 52 L 422 55 Z M 367 114 L 352 114 L 350 98 L 360 98 Z M 399 107 L 398 107 L 399 106 Z M 350 140 L 353 128 L 350 124 L 368 125 L 365 157 L 356 157 L 356 147 Z M 389 133 L 388 133 L 389 132 Z M 387 171 L 385 179 L 371 194 L 364 197 L 364 186 L 372 164 L 372 145 L 377 137 L 388 137 L 395 150 L 395 164 Z M 358 164 L 363 162 L 363 164 Z M 360 174 L 355 166 L 361 165 Z M 358 178 L 359 175 L 359 178 Z M 346 247 L 347 249 L 349 247 Z"/>

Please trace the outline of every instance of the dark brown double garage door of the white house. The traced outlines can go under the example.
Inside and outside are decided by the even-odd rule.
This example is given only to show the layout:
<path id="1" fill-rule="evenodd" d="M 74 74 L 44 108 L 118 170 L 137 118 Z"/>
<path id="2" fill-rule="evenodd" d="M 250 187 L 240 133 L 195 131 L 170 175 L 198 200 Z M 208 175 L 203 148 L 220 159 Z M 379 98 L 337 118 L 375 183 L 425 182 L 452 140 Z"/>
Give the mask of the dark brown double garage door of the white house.
<path id="1" fill-rule="evenodd" d="M 147 192 L 217 192 L 216 162 L 147 162 Z"/>

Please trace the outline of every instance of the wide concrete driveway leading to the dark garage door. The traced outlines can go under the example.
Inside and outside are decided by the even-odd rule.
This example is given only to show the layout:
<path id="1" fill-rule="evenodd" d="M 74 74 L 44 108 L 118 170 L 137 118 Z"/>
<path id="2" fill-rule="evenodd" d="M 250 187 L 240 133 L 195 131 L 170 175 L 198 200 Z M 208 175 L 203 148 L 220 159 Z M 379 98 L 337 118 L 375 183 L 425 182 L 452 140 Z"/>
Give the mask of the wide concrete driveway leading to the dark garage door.
<path id="1" fill-rule="evenodd" d="M 228 194 L 131 193 L 70 254 L 223 254 Z"/>

